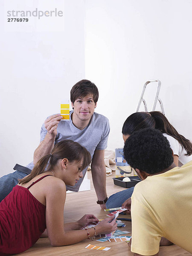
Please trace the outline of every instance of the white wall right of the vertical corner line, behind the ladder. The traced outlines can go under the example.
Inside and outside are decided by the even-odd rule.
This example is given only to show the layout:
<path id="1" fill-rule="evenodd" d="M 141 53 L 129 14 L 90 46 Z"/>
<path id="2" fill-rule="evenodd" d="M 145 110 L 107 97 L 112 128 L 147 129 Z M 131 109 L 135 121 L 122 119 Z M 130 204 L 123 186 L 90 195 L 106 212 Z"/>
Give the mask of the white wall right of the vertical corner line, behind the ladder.
<path id="1" fill-rule="evenodd" d="M 123 146 L 123 122 L 150 79 L 162 82 L 169 121 L 192 139 L 192 1 L 85 0 L 85 7 L 85 75 L 99 88 L 96 111 L 110 120 L 108 148 Z"/>

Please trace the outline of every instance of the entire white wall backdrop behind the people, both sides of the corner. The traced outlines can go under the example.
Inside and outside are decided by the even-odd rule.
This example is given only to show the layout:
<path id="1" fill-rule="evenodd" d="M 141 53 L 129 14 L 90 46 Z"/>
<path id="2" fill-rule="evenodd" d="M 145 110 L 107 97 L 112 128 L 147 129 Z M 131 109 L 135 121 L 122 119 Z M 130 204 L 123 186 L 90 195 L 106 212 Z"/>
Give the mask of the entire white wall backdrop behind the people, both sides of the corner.
<path id="1" fill-rule="evenodd" d="M 108 149 L 123 146 L 122 124 L 148 79 L 161 80 L 166 116 L 192 139 L 191 0 L 53 2 L 64 3 L 64 31 L 1 27 L 0 176 L 32 160 L 44 119 L 84 78 L 99 88 L 96 112 L 110 120 Z M 151 104 L 154 88 L 146 93 Z"/>

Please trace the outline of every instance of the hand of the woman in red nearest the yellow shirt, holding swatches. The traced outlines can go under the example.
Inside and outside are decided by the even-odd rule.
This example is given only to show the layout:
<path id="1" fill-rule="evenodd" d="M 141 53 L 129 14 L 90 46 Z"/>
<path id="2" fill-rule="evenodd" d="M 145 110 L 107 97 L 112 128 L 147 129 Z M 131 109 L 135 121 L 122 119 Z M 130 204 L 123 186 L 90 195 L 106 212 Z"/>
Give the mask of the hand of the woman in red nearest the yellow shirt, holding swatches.
<path id="1" fill-rule="evenodd" d="M 117 229 L 116 218 L 114 216 L 105 218 L 103 221 L 96 225 L 96 235 L 98 234 L 109 234 Z"/>

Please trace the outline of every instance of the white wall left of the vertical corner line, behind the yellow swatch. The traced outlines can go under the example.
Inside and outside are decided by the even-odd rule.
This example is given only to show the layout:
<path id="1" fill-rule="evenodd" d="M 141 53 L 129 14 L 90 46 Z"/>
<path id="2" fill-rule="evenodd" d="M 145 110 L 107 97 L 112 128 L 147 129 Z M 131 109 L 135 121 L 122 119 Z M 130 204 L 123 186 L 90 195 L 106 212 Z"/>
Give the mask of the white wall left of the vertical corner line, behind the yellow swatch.
<path id="1" fill-rule="evenodd" d="M 25 2 L 19 1 L 23 8 Z M 64 3 L 64 31 L 37 32 L 33 27 L 7 32 L 1 27 L 0 176 L 12 172 L 15 163 L 32 161 L 44 119 L 59 113 L 61 99 L 69 98 L 71 87 L 84 78 L 84 2 L 53 2 L 55 7 Z M 0 9 L 3 24 L 3 3 Z"/>

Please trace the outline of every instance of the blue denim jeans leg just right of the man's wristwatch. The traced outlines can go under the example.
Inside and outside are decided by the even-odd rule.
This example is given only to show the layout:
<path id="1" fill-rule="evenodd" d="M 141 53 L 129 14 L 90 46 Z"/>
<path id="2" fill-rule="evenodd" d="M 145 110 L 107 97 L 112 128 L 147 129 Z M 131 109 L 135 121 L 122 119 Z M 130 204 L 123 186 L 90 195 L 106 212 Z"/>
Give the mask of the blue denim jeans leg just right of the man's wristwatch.
<path id="1" fill-rule="evenodd" d="M 134 191 L 134 187 L 125 189 L 123 191 L 120 191 L 120 192 L 117 192 L 116 194 L 111 195 L 108 198 L 108 201 L 106 203 L 106 208 L 110 209 L 110 208 L 121 207 L 122 203 L 124 203 L 125 200 L 131 197 L 131 195 L 133 194 L 133 191 Z"/>

